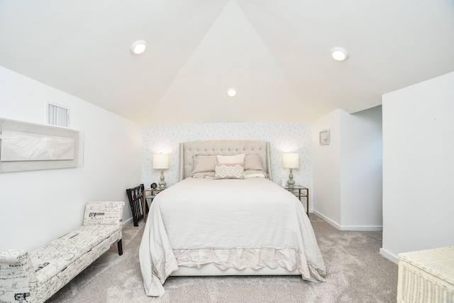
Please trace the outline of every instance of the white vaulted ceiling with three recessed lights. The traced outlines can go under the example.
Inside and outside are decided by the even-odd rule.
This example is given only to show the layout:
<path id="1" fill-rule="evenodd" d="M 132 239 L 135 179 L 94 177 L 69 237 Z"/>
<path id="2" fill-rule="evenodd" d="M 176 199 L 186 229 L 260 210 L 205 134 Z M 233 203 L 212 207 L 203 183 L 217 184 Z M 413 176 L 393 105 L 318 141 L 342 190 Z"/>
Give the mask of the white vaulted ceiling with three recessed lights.
<path id="1" fill-rule="evenodd" d="M 0 0 L 0 65 L 140 126 L 313 121 L 453 72 L 454 1 Z"/>

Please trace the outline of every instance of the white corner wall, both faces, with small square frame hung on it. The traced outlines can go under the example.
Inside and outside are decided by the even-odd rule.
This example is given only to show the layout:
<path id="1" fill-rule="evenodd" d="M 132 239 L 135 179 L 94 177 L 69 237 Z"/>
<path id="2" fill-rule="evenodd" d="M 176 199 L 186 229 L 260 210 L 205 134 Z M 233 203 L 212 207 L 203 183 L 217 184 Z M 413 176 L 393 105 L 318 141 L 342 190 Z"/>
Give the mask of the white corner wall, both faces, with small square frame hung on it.
<path id="1" fill-rule="evenodd" d="M 382 228 L 381 106 L 314 122 L 314 212 L 341 230 Z M 319 145 L 328 129 L 331 142 Z"/>

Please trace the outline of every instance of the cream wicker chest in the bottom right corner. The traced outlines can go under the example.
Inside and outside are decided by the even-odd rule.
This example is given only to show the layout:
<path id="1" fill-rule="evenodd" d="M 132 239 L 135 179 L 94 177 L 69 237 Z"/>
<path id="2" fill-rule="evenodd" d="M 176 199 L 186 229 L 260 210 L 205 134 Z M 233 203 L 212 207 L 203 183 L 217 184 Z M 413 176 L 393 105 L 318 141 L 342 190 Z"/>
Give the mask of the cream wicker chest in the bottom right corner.
<path id="1" fill-rule="evenodd" d="M 454 246 L 399 253 L 397 302 L 454 302 Z"/>

